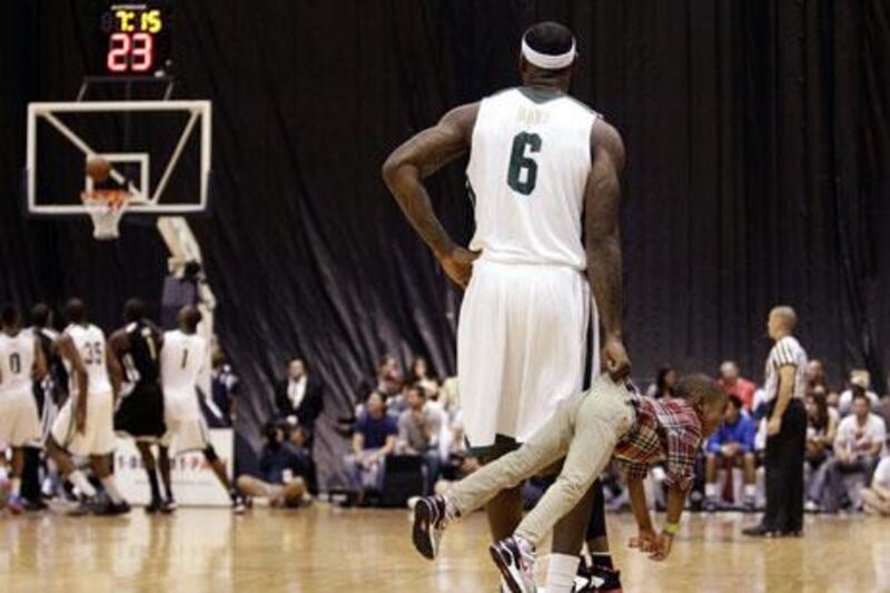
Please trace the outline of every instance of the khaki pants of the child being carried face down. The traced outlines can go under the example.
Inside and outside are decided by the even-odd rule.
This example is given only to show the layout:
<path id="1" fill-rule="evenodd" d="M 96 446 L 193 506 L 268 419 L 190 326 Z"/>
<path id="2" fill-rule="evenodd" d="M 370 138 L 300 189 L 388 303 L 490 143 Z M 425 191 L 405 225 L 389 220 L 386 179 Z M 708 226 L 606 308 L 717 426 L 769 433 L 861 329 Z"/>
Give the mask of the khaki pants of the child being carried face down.
<path id="1" fill-rule="evenodd" d="M 615 444 L 631 428 L 635 412 L 630 398 L 623 385 L 605 375 L 597 377 L 590 391 L 560 404 L 522 447 L 455 484 L 448 500 L 466 515 L 565 456 L 556 482 L 516 528 L 516 535 L 538 545 L 590 490 L 609 464 Z"/>

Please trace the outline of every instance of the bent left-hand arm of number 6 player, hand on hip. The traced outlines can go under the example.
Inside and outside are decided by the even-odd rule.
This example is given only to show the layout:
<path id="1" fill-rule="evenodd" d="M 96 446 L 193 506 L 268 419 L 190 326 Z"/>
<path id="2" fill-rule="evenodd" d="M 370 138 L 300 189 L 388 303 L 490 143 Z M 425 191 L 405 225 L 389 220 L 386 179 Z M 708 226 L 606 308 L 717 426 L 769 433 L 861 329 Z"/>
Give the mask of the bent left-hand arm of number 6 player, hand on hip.
<path id="1" fill-rule="evenodd" d="M 383 178 L 402 211 L 442 263 L 445 273 L 466 286 L 475 255 L 455 245 L 442 226 L 423 180 L 466 154 L 478 103 L 453 109 L 434 127 L 395 149 L 383 165 Z"/>

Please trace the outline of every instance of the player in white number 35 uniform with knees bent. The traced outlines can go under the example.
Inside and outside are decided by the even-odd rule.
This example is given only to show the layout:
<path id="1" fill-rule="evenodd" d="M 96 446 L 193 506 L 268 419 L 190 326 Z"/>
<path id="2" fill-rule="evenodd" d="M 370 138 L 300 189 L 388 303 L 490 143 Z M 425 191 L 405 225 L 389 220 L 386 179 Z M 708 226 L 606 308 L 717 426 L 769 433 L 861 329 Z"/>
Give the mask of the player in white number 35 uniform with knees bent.
<path id="1" fill-rule="evenodd" d="M 66 315 L 69 325 L 56 347 L 71 377 L 70 396 L 52 424 L 47 452 L 62 477 L 77 486 L 82 495 L 77 514 L 126 514 L 130 512 L 130 505 L 121 496 L 108 463 L 115 452 L 115 393 L 120 386 L 112 391 L 109 380 L 105 333 L 87 320 L 87 307 L 78 298 L 68 302 Z M 108 495 L 106 503 L 97 504 L 96 488 L 76 468 L 71 455 L 89 457 L 92 471 Z"/>

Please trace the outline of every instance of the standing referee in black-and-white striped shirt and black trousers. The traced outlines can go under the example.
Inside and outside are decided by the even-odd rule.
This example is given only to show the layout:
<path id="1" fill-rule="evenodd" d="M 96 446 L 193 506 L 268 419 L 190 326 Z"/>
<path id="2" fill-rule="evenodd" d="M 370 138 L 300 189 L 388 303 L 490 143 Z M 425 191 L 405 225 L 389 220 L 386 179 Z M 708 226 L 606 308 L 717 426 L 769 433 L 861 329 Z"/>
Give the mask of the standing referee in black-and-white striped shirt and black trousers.
<path id="1" fill-rule="evenodd" d="M 770 312 L 768 330 L 775 342 L 767 359 L 767 513 L 753 536 L 799 536 L 803 530 L 803 455 L 807 443 L 807 353 L 794 338 L 798 316 L 791 307 Z"/>

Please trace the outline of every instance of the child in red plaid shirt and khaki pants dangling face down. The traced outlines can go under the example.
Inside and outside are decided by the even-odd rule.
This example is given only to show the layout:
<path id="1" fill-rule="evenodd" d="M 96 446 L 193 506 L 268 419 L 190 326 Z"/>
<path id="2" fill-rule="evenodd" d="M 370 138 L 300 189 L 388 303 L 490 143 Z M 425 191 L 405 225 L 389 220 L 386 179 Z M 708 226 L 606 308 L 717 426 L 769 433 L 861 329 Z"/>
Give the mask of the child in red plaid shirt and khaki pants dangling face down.
<path id="1" fill-rule="evenodd" d="M 413 538 L 417 551 L 435 559 L 448 522 L 483 506 L 498 492 L 537 475 L 565 457 L 562 472 L 511 537 L 492 544 L 492 559 L 514 593 L 536 591 L 535 547 L 581 501 L 614 457 L 627 476 L 639 535 L 631 545 L 664 560 L 671 552 L 680 515 L 694 478 L 695 452 L 719 426 L 726 396 L 705 375 L 683 377 L 679 398 L 641 397 L 607 375 L 562 404 L 553 417 L 522 447 L 494 461 L 461 482 L 446 495 L 422 498 L 414 510 Z M 655 534 L 646 507 L 643 478 L 649 465 L 665 462 L 668 517 Z"/>

